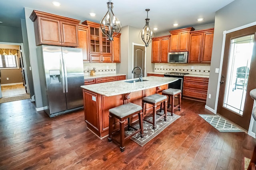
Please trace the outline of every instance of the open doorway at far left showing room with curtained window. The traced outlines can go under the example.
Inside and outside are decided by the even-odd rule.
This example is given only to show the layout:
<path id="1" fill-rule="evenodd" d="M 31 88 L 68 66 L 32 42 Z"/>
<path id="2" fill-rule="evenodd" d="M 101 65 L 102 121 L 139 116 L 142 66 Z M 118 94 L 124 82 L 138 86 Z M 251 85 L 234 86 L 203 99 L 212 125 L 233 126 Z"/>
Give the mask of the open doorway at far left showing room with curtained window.
<path id="1" fill-rule="evenodd" d="M 22 48 L 20 43 L 0 42 L 0 92 L 2 98 L 29 94 Z"/>

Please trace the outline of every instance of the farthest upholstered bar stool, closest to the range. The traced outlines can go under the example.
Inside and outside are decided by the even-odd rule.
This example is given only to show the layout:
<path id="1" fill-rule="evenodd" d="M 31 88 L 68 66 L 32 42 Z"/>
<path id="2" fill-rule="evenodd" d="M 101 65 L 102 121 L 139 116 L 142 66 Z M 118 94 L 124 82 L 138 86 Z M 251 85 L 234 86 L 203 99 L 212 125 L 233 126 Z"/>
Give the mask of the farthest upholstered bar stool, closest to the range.
<path id="1" fill-rule="evenodd" d="M 168 108 L 171 105 L 171 115 L 174 113 L 174 109 L 179 109 L 181 106 L 181 90 L 180 89 L 166 89 L 162 91 L 162 95 L 168 96 Z M 178 96 L 178 105 L 174 106 L 174 97 Z"/>

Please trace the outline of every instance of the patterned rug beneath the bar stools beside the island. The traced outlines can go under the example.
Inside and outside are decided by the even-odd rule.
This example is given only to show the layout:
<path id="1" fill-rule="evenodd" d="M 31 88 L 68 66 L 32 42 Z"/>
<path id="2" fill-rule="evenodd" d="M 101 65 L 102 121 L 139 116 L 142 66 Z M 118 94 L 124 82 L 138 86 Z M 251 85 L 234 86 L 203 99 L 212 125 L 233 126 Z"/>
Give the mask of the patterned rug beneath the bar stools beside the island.
<path id="1" fill-rule="evenodd" d="M 138 143 L 140 146 L 143 146 L 144 144 L 149 142 L 152 138 L 157 136 L 160 132 L 162 132 L 166 127 L 168 127 L 170 124 L 176 121 L 180 116 L 175 114 L 171 116 L 171 113 L 167 112 L 167 117 L 168 119 L 166 121 L 164 121 L 164 119 L 159 119 L 159 121 L 156 122 L 155 129 L 152 129 L 152 124 L 146 121 L 143 121 L 144 138 L 140 138 L 140 133 L 137 133 L 134 136 L 132 136 L 131 139 L 134 140 L 136 143 Z M 152 117 L 149 117 L 148 120 L 152 121 Z M 134 127 L 139 128 L 139 125 L 135 125 Z M 132 128 L 131 130 L 126 131 L 127 134 L 131 134 L 132 132 L 134 132 L 134 129 Z"/>

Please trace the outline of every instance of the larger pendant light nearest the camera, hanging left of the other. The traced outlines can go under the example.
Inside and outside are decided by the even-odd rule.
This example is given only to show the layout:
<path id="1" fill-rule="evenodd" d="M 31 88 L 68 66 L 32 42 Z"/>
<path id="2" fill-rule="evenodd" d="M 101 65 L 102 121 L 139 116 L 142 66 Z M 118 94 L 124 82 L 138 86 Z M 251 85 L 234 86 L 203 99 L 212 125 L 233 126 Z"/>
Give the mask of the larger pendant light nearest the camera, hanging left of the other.
<path id="1" fill-rule="evenodd" d="M 102 30 L 102 33 L 106 35 L 110 41 L 112 41 L 114 38 L 113 33 L 114 32 L 119 33 L 122 26 L 121 26 L 121 22 L 118 20 L 118 18 L 116 18 L 116 16 L 112 11 L 113 3 L 111 2 L 111 0 L 107 2 L 107 7 L 108 7 L 108 12 L 101 20 L 100 28 Z"/>

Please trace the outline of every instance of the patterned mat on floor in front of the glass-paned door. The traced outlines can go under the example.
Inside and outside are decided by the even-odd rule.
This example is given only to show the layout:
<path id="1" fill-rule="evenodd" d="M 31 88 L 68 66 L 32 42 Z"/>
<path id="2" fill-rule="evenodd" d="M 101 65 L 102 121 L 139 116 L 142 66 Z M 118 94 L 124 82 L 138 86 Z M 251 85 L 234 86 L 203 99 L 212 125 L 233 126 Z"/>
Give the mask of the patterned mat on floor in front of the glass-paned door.
<path id="1" fill-rule="evenodd" d="M 199 115 L 219 132 L 244 132 L 219 115 Z"/>

